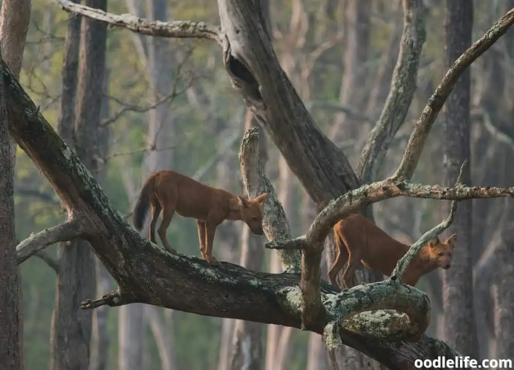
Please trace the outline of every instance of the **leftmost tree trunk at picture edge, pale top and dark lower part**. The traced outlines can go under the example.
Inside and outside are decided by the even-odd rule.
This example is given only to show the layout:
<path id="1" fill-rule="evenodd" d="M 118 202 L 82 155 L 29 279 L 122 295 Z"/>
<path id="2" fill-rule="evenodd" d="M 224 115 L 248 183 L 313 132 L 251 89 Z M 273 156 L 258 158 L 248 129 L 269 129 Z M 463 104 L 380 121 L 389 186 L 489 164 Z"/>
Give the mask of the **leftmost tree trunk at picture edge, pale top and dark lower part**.
<path id="1" fill-rule="evenodd" d="M 31 0 L 4 0 L 0 9 L 0 55 L 16 78 L 20 77 L 23 51 L 30 22 Z M 3 94 L 3 84 L 0 94 Z M 5 104 L 0 104 L 5 109 Z M 5 110 L 4 110 L 5 112 Z M 0 303 L 8 307 L 0 320 L 0 363 L 9 369 L 23 369 L 23 306 L 22 279 L 15 264 L 16 233 L 14 228 L 14 166 L 16 163 L 16 142 L 7 132 L 7 117 L 2 115 L 2 168 L 0 168 L 0 250 L 3 250 L 3 266 L 0 265 Z M 7 141 L 6 141 L 7 140 Z M 5 152 L 4 152 L 5 151 Z M 13 245 L 14 244 L 14 245 Z M 4 254 L 5 253 L 5 254 Z M 6 352 L 4 352 L 4 350 Z"/>

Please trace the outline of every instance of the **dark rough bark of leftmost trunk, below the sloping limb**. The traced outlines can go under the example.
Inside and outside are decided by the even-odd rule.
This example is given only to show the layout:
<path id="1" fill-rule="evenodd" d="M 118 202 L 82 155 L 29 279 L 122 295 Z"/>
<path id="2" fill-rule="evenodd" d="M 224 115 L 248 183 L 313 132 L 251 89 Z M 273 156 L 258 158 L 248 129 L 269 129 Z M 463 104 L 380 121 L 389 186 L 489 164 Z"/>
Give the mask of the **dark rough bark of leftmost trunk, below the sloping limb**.
<path id="1" fill-rule="evenodd" d="M 14 232 L 14 161 L 7 125 L 6 88 L 0 76 L 0 363 L 21 368 L 20 292 Z"/>

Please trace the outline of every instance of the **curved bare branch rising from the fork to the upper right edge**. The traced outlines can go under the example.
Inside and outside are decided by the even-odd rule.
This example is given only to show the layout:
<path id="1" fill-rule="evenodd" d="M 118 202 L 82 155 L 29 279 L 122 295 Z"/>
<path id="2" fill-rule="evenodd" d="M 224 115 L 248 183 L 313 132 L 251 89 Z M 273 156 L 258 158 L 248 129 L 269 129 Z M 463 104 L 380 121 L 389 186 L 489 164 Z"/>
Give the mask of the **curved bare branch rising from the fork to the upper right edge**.
<path id="1" fill-rule="evenodd" d="M 437 86 L 434 94 L 430 97 L 425 109 L 421 113 L 414 130 L 412 131 L 409 142 L 405 149 L 405 154 L 401 163 L 393 175 L 395 180 L 409 180 L 416 170 L 419 157 L 423 151 L 425 141 L 428 137 L 432 124 L 437 114 L 443 107 L 446 99 L 450 95 L 453 86 L 461 76 L 462 72 L 471 65 L 484 51 L 489 49 L 514 23 L 514 9 L 509 10 L 497 22 L 495 22 L 482 38 L 471 45 L 464 54 L 461 55 L 446 73 L 443 81 Z"/>

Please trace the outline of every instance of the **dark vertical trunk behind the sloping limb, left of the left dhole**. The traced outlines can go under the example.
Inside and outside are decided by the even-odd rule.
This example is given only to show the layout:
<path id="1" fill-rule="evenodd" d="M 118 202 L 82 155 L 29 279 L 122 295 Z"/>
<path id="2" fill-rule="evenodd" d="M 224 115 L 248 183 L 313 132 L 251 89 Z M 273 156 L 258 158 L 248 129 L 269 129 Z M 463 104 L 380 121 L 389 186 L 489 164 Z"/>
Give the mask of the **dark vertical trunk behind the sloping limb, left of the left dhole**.
<path id="1" fill-rule="evenodd" d="M 101 10 L 106 10 L 107 6 L 106 0 L 86 0 L 86 5 Z M 98 158 L 105 157 L 108 140 L 107 130 L 100 126 L 102 94 L 98 94 L 98 91 L 103 91 L 106 30 L 102 22 L 89 18 L 82 20 L 75 105 L 75 150 L 99 181 L 102 181 L 103 163 Z M 66 102 L 70 103 L 69 96 L 67 99 Z M 61 110 L 69 108 L 63 99 Z M 65 115 L 69 117 L 69 113 L 61 113 L 61 117 Z M 61 122 L 61 127 L 65 124 Z M 68 243 L 61 249 L 56 306 L 52 317 L 54 370 L 89 369 L 92 312 L 81 310 L 80 302 L 94 296 L 95 290 L 95 260 L 88 243 L 83 240 Z"/>

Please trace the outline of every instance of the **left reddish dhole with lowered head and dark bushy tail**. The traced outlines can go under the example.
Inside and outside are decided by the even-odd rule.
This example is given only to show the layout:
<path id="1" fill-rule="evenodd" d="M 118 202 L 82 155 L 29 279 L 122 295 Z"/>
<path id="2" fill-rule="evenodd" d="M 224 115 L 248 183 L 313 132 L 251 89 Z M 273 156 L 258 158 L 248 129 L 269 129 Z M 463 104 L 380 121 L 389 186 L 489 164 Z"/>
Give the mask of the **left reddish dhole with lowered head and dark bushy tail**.
<path id="1" fill-rule="evenodd" d="M 212 188 L 178 172 L 162 170 L 146 179 L 134 208 L 132 223 L 141 231 L 144 217 L 151 206 L 150 241 L 157 244 L 155 224 L 162 210 L 162 221 L 157 232 L 164 247 L 177 254 L 166 238 L 166 229 L 173 215 L 177 213 L 182 217 L 196 218 L 201 255 L 209 263 L 219 265 L 212 256 L 216 227 L 226 219 L 243 220 L 253 234 L 263 235 L 262 206 L 266 197 L 267 193 L 264 193 L 255 199 L 247 199 L 223 189 Z"/>

